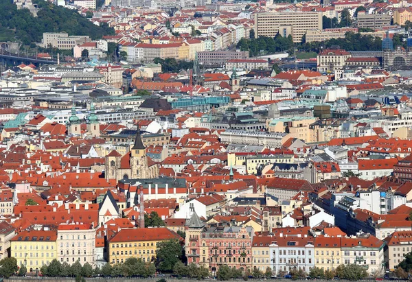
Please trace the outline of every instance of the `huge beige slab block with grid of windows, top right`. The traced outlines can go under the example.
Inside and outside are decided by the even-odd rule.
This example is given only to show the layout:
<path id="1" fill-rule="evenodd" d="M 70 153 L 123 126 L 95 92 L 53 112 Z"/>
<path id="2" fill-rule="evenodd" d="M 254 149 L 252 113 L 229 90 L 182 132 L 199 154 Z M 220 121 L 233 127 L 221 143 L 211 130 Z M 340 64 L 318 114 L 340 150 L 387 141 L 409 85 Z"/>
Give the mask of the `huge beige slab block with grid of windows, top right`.
<path id="1" fill-rule="evenodd" d="M 301 42 L 308 30 L 322 30 L 321 12 L 264 12 L 255 14 L 255 36 L 274 37 L 277 33 Z"/>

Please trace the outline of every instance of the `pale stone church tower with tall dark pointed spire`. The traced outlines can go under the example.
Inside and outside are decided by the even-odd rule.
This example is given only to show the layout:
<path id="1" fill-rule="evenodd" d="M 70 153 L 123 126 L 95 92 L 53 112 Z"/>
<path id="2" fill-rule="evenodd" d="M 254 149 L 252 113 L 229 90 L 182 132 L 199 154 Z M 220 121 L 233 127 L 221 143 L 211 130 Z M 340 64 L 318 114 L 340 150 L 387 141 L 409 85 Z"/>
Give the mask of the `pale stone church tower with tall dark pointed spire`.
<path id="1" fill-rule="evenodd" d="M 130 149 L 130 170 L 130 178 L 132 179 L 148 178 L 148 157 L 146 156 L 146 147 L 141 141 L 139 128 L 137 128 L 135 144 Z"/>

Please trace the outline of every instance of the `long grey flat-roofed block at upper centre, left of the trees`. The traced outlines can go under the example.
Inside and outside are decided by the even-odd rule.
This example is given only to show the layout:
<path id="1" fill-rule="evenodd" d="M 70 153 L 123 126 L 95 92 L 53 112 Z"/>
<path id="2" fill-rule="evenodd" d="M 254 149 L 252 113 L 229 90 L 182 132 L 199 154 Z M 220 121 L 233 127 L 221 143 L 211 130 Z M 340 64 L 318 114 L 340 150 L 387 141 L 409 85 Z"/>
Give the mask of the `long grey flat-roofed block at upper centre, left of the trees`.
<path id="1" fill-rule="evenodd" d="M 229 60 L 249 59 L 248 51 L 201 51 L 198 52 L 198 62 L 205 67 L 223 67 Z"/>

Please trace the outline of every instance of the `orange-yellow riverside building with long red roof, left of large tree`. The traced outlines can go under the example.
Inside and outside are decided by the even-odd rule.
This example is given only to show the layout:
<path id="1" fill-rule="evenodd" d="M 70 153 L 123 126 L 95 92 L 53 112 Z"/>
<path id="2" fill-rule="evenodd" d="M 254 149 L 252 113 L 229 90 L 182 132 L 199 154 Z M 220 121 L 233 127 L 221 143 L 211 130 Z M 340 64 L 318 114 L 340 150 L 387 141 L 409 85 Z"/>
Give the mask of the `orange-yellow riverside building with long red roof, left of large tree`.
<path id="1" fill-rule="evenodd" d="M 129 257 L 155 261 L 159 242 L 179 238 L 165 227 L 122 229 L 108 239 L 108 263 L 124 263 Z"/>

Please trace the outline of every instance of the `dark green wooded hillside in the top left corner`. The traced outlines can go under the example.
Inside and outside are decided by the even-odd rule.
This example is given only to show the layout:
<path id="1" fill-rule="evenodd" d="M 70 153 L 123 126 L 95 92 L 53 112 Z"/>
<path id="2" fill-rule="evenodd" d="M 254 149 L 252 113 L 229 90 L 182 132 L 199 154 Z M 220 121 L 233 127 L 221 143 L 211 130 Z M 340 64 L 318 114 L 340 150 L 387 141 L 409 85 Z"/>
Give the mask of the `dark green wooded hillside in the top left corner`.
<path id="1" fill-rule="evenodd" d="M 38 16 L 27 9 L 17 10 L 12 1 L 0 1 L 0 40 L 19 40 L 23 45 L 41 42 L 43 32 L 67 32 L 69 35 L 89 35 L 102 38 L 114 34 L 107 24 L 95 25 L 75 10 L 69 10 L 44 0 L 33 0 Z"/>

